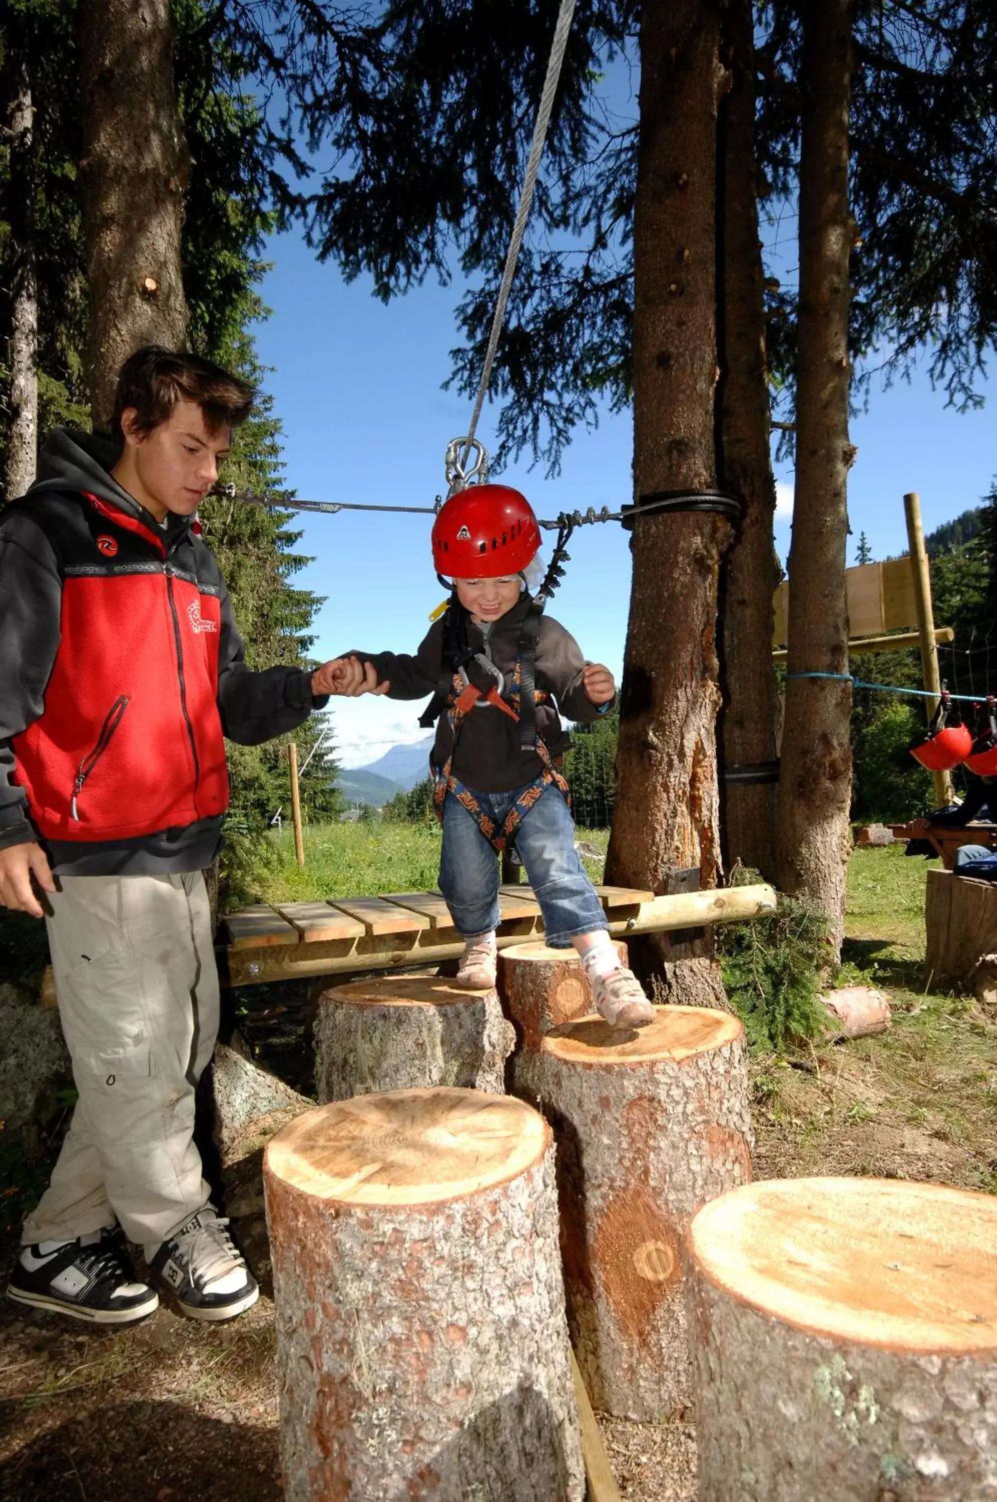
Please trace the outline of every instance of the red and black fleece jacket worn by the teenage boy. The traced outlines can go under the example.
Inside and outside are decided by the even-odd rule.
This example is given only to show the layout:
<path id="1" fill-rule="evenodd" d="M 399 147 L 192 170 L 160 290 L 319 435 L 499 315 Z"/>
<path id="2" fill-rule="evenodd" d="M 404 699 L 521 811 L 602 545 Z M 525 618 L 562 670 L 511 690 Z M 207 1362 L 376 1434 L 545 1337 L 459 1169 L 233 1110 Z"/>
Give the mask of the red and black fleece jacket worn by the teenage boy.
<path id="1" fill-rule="evenodd" d="M 218 563 L 111 479 L 107 440 L 59 430 L 0 514 L 0 849 L 63 874 L 194 870 L 228 807 L 224 736 L 258 745 L 320 704 L 251 671 Z"/>

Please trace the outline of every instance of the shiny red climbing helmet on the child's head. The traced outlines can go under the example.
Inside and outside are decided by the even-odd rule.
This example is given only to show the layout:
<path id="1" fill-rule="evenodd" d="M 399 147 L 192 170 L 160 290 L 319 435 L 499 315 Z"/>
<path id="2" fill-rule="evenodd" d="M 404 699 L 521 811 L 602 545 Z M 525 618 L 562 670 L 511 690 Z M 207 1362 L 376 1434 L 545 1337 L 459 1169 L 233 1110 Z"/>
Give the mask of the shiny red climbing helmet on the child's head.
<path id="1" fill-rule="evenodd" d="M 432 562 L 447 578 L 518 574 L 539 547 L 533 508 L 511 485 L 468 485 L 432 523 Z"/>

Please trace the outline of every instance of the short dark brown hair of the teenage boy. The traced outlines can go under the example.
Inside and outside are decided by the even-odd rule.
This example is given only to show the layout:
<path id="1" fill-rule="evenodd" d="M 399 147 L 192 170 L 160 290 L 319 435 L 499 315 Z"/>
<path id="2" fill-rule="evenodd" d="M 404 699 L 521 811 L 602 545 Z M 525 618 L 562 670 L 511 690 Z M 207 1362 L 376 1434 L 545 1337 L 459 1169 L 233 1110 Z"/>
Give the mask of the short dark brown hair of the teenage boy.
<path id="1" fill-rule="evenodd" d="M 146 436 L 161 422 L 170 421 L 179 401 L 195 403 L 212 434 L 219 428 L 237 428 L 249 416 L 255 395 L 255 388 L 248 380 L 230 376 L 221 365 L 203 360 L 200 354 L 146 344 L 122 365 L 111 433 L 122 440 L 122 413 L 134 407 L 135 431 Z"/>

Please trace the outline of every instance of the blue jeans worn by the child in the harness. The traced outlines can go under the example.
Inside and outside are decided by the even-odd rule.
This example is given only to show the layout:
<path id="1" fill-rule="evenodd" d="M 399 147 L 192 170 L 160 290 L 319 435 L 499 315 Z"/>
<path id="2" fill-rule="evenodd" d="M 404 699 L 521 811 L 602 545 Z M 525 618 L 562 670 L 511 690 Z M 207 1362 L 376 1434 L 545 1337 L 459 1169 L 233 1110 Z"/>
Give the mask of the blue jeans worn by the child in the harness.
<path id="1" fill-rule="evenodd" d="M 520 793 L 523 789 L 517 787 L 509 793 L 476 792 L 474 798 L 502 825 Z M 517 829 L 515 846 L 553 949 L 569 949 L 575 934 L 608 928 L 575 850 L 575 826 L 565 795 L 553 783 Z M 498 927 L 498 856 L 453 793 L 446 795 L 443 805 L 440 891 L 461 937 L 476 939 Z"/>

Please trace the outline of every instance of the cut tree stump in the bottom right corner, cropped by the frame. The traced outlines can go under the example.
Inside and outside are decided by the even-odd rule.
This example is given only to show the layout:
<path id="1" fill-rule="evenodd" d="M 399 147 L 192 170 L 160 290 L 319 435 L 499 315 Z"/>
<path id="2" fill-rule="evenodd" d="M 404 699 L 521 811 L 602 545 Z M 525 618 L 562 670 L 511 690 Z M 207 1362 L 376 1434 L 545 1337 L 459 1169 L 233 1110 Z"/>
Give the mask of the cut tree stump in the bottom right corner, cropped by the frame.
<path id="1" fill-rule="evenodd" d="M 776 1179 L 689 1235 L 700 1502 L 997 1490 L 997 1200 Z"/>

